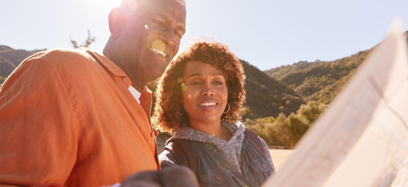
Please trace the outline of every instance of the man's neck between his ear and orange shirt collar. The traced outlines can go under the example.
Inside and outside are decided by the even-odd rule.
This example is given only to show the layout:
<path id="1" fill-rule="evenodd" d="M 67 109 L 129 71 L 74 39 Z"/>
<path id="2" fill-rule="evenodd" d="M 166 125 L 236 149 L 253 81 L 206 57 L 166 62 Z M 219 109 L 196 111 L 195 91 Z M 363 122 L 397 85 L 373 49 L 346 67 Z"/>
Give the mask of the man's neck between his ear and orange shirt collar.
<path id="1" fill-rule="evenodd" d="M 130 72 L 126 72 L 125 68 L 122 66 L 120 63 L 120 58 L 118 53 L 116 52 L 116 48 L 114 46 L 114 39 L 112 37 L 109 37 L 108 42 L 106 43 L 105 48 L 103 49 L 103 54 L 108 57 L 109 60 L 111 60 L 113 63 L 115 63 L 117 66 L 122 69 L 122 71 L 130 78 L 132 82 L 132 86 L 139 91 L 140 93 L 143 92 L 144 87 L 146 86 L 147 83 L 149 83 L 149 80 L 144 80 L 143 77 L 135 77 L 133 74 Z M 140 75 L 140 74 L 139 74 Z"/>

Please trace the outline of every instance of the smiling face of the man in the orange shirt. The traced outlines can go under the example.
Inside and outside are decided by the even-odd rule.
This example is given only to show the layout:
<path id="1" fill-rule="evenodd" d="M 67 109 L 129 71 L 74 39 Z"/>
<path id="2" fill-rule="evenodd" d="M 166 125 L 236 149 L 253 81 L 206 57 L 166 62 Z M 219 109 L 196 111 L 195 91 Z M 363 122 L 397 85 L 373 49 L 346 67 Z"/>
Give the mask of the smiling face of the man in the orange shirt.
<path id="1" fill-rule="evenodd" d="M 148 80 L 162 76 L 185 33 L 185 7 L 175 0 L 149 0 L 125 22 L 116 40 L 125 73 Z"/>

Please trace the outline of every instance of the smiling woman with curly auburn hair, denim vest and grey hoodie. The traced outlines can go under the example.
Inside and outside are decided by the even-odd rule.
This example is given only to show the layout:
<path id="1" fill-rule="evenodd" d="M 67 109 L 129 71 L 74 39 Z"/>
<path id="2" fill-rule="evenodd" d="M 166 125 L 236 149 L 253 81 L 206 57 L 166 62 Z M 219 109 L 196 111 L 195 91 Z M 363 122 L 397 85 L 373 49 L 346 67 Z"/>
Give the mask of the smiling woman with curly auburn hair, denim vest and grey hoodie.
<path id="1" fill-rule="evenodd" d="M 190 167 L 202 186 L 260 186 L 275 172 L 263 139 L 239 122 L 244 70 L 227 46 L 197 42 L 172 61 L 156 90 L 152 123 L 173 134 L 162 169 Z"/>

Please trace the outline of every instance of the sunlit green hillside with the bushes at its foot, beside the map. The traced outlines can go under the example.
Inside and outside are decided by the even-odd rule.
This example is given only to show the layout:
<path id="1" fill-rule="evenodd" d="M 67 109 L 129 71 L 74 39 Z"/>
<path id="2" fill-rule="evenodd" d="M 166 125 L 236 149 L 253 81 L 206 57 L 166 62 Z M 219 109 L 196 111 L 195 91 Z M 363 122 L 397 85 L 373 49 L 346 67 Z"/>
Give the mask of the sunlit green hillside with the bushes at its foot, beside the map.
<path id="1" fill-rule="evenodd" d="M 405 36 L 408 43 L 408 31 Z M 246 119 L 244 124 L 267 144 L 293 148 L 372 50 L 373 48 L 360 51 L 335 61 L 300 61 L 265 71 L 269 76 L 292 88 L 307 103 L 302 104 L 296 113 Z"/>

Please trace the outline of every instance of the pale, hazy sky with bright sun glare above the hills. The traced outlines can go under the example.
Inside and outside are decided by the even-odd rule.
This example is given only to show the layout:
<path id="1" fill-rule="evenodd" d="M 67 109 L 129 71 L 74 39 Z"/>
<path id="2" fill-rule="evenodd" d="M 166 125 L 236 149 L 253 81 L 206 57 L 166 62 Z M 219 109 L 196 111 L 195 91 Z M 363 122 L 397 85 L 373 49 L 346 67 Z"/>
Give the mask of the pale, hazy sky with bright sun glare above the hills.
<path id="1" fill-rule="evenodd" d="M 0 44 L 15 49 L 72 48 L 86 31 L 90 48 L 109 38 L 120 0 L 0 0 Z M 367 50 L 395 17 L 408 29 L 408 0 L 187 0 L 180 50 L 198 36 L 227 44 L 260 70 L 298 61 L 332 61 Z M 179 51 L 181 52 L 181 51 Z"/>

